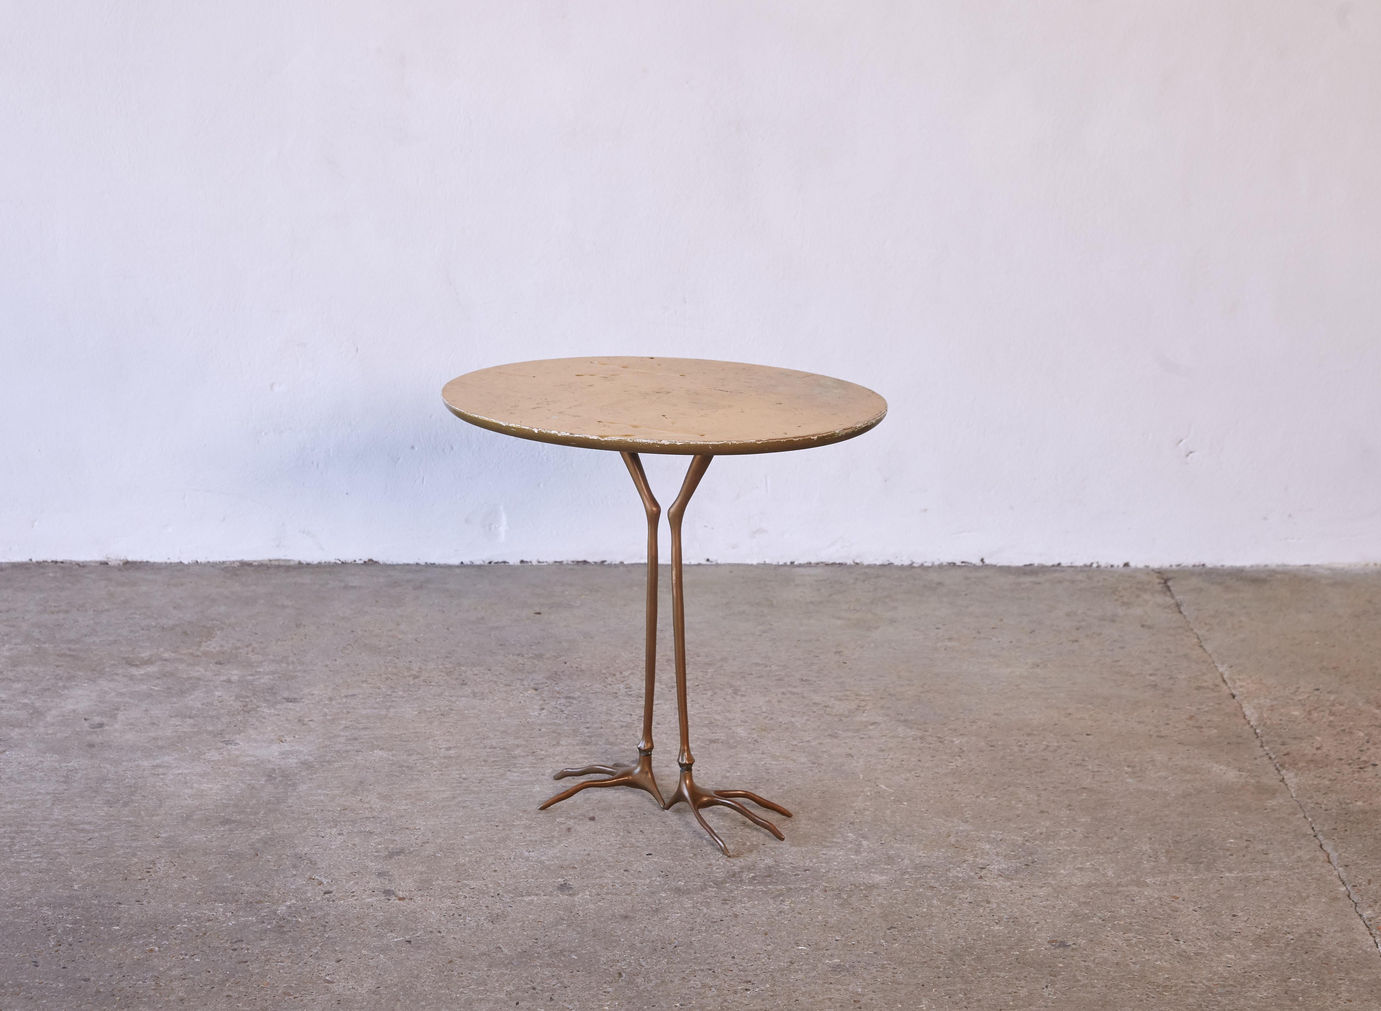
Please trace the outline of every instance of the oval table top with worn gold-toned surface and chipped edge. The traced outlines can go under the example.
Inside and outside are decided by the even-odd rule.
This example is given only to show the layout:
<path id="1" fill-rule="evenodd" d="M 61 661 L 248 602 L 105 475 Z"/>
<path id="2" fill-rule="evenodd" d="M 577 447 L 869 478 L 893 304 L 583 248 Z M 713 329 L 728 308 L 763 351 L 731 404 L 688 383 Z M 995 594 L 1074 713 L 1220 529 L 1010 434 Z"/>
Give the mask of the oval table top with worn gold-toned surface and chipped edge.
<path id="1" fill-rule="evenodd" d="M 733 455 L 829 446 L 882 421 L 887 401 L 842 379 L 704 359 L 547 359 L 481 368 L 442 389 L 492 432 L 626 452 Z"/>

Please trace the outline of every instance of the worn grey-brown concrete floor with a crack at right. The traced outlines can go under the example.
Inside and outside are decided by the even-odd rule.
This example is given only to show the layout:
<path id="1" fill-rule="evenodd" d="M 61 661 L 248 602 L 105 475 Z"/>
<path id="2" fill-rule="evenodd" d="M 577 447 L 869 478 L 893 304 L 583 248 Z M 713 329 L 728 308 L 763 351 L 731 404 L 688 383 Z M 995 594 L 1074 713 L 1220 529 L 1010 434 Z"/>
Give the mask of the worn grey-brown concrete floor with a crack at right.
<path id="1" fill-rule="evenodd" d="M 697 778 L 795 812 L 733 859 L 536 810 L 639 568 L 0 567 L 0 1008 L 1381 1007 L 1381 571 L 686 589 Z"/>

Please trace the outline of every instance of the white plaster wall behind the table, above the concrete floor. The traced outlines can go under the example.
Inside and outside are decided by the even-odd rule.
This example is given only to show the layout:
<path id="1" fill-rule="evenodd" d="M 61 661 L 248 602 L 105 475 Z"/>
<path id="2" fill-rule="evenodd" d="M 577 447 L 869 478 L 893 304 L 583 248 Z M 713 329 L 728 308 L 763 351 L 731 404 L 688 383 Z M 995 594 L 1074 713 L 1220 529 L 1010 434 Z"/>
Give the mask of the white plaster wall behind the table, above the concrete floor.
<path id="1" fill-rule="evenodd" d="M 695 559 L 1381 561 L 1381 4 L 4 0 L 0 353 L 6 560 L 637 559 L 598 353 L 891 401 Z"/>

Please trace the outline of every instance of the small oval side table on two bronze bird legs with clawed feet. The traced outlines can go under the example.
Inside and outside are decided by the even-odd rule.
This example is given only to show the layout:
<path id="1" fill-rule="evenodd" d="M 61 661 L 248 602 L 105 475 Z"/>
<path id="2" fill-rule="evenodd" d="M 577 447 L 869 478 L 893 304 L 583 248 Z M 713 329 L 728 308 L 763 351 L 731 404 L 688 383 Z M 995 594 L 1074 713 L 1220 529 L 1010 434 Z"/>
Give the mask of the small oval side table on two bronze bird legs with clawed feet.
<path id="1" fill-rule="evenodd" d="M 700 815 L 704 807 L 733 808 L 784 839 L 780 829 L 742 801 L 791 812 L 749 790 L 710 790 L 692 775 L 686 709 L 685 594 L 681 582 L 681 520 L 690 495 L 718 455 L 783 452 L 860 436 L 887 415 L 887 401 L 863 386 L 813 372 L 702 359 L 548 359 L 482 368 L 442 389 L 452 414 L 471 425 L 519 439 L 623 455 L 648 514 L 648 601 L 642 738 L 632 764 L 563 768 L 557 779 L 584 779 L 541 804 L 551 807 L 591 786 L 631 786 L 650 793 L 663 810 L 685 804 L 725 857 L 728 847 Z M 681 494 L 667 510 L 671 527 L 671 621 L 675 648 L 681 779 L 661 799 L 652 774 L 652 705 L 657 654 L 657 524 L 661 506 L 642 470 L 639 452 L 690 457 Z"/>

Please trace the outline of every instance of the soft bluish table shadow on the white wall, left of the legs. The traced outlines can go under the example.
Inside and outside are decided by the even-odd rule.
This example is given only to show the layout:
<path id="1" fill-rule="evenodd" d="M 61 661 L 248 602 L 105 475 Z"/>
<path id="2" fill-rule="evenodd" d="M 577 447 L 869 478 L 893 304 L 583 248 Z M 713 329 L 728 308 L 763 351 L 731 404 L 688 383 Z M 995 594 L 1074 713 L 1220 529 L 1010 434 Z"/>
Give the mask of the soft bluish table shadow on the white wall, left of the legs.
<path id="1" fill-rule="evenodd" d="M 637 556 L 641 503 L 617 454 L 486 432 L 439 404 L 387 407 L 301 425 L 300 437 L 265 441 L 244 462 L 249 508 L 272 531 L 271 557 Z"/>

